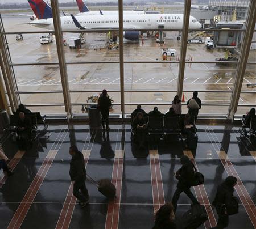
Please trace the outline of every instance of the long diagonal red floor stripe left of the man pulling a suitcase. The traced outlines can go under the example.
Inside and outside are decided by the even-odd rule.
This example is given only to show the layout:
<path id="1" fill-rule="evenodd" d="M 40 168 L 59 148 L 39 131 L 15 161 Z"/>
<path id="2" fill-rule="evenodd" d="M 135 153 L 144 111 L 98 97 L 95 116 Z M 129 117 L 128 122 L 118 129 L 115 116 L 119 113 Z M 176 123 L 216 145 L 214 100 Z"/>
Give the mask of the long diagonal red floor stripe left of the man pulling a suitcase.
<path id="1" fill-rule="evenodd" d="M 42 185 L 44 177 L 46 177 L 46 174 L 51 167 L 51 164 L 56 154 L 57 150 L 50 150 L 48 152 L 46 159 L 44 159 L 42 166 L 39 168 L 38 173 L 36 173 L 34 180 L 30 184 L 30 187 L 28 188 L 27 193 L 23 197 L 23 200 L 20 202 L 20 205 L 16 210 L 13 218 L 11 219 L 11 222 L 9 223 L 7 229 L 20 228 L 20 226 L 22 225 L 22 222 L 26 217 L 27 212 L 32 205 L 32 202 L 34 201 L 36 193 L 38 193 L 38 190 Z"/>

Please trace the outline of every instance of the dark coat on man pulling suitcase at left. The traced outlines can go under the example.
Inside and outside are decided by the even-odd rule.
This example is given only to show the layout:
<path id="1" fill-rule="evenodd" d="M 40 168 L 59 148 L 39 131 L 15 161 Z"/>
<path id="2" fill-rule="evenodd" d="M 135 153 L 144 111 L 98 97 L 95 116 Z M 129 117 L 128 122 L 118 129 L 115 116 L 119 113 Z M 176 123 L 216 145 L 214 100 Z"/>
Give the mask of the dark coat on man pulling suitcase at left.
<path id="1" fill-rule="evenodd" d="M 70 162 L 69 176 L 72 181 L 81 181 L 86 178 L 84 155 L 80 151 L 72 156 Z"/>

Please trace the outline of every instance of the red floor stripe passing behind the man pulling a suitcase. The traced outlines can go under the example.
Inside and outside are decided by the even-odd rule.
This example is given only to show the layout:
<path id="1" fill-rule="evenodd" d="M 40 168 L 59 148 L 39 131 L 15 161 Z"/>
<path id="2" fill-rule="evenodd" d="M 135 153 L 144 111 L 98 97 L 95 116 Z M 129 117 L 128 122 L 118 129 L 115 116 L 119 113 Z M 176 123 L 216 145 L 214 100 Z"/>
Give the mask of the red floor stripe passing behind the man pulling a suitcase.
<path id="1" fill-rule="evenodd" d="M 88 164 L 90 157 L 90 150 L 83 150 L 85 167 Z M 56 229 L 67 229 L 72 219 L 73 211 L 76 206 L 76 197 L 73 196 L 73 182 L 69 185 L 68 194 L 66 196 L 63 208 L 61 210 L 59 219 L 57 221 Z"/>

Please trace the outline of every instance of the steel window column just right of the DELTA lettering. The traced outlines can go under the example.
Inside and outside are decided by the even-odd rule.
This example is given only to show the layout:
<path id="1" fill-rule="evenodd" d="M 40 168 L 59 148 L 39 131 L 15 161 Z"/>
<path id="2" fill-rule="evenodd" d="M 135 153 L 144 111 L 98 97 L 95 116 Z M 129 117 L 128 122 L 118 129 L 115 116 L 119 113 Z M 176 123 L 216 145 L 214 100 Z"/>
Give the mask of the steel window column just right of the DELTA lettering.
<path id="1" fill-rule="evenodd" d="M 191 9 L 191 0 L 185 0 L 184 13 L 183 13 L 183 31 L 181 36 L 181 48 L 180 48 L 179 77 L 178 77 L 178 84 L 177 84 L 177 95 L 179 95 L 180 99 L 183 91 L 190 9 Z"/>

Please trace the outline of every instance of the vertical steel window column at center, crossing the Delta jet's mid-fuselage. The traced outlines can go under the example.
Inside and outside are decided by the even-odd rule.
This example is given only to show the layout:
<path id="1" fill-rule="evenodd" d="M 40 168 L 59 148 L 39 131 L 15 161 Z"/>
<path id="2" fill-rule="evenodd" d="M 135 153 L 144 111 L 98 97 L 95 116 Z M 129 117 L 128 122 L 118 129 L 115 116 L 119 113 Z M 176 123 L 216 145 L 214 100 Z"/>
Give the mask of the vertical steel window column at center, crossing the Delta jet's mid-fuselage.
<path id="1" fill-rule="evenodd" d="M 122 120 L 125 117 L 125 71 L 123 63 L 123 0 L 118 0 L 119 12 L 119 65 Z"/>

